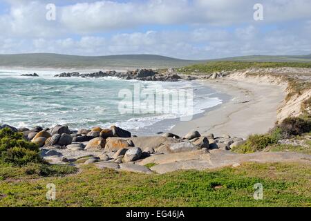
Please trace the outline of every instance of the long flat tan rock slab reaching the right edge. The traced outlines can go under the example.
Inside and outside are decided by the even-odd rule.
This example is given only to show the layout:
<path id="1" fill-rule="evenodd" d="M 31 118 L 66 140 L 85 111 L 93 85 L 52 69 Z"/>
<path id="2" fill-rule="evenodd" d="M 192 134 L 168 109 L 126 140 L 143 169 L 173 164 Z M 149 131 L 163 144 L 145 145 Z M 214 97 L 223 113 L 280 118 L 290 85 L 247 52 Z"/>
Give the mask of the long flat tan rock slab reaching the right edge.
<path id="1" fill-rule="evenodd" d="M 303 153 L 285 153 L 285 152 L 258 152 L 249 154 L 237 154 L 230 151 L 213 150 L 210 153 L 199 153 L 193 151 L 191 153 L 179 153 L 169 155 L 158 155 L 151 159 L 151 162 L 158 165 L 151 167 L 151 171 L 156 173 L 169 173 L 179 170 L 198 170 L 216 169 L 223 166 L 232 166 L 243 162 L 302 162 L 311 165 L 311 155 Z M 185 158 L 183 158 L 185 157 Z M 148 158 L 147 158 L 148 159 Z M 140 162 L 144 164 L 147 162 Z"/>

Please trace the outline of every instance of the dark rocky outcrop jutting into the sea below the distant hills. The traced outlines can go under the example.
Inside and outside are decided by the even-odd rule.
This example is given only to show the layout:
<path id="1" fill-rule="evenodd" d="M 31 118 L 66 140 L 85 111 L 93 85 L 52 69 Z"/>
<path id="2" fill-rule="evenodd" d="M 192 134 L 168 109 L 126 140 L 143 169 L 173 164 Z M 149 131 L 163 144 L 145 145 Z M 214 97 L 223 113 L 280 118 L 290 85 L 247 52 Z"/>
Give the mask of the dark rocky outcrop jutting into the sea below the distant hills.
<path id="1" fill-rule="evenodd" d="M 106 71 L 106 72 L 96 72 L 96 73 L 86 73 L 86 74 L 80 74 L 77 72 L 73 73 L 61 73 L 59 75 L 55 75 L 55 77 L 118 77 L 121 79 L 137 79 L 140 81 L 178 81 L 178 79 L 181 79 L 179 75 L 176 73 L 158 73 L 155 70 L 152 69 L 138 69 L 133 71 L 127 71 L 127 72 L 116 72 L 115 70 Z"/>

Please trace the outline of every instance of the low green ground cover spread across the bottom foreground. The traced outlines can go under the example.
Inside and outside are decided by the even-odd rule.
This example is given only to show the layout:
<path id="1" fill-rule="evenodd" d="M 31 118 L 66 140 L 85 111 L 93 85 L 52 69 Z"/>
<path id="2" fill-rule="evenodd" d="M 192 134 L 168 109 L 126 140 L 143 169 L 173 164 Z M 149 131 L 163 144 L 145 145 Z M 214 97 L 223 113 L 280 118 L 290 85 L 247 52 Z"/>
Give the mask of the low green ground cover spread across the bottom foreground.
<path id="1" fill-rule="evenodd" d="M 0 206 L 311 206 L 310 167 L 243 164 L 213 171 L 147 175 L 84 166 L 82 173 L 0 181 Z M 254 184 L 263 200 L 254 200 Z M 56 200 L 46 200 L 46 184 Z"/>

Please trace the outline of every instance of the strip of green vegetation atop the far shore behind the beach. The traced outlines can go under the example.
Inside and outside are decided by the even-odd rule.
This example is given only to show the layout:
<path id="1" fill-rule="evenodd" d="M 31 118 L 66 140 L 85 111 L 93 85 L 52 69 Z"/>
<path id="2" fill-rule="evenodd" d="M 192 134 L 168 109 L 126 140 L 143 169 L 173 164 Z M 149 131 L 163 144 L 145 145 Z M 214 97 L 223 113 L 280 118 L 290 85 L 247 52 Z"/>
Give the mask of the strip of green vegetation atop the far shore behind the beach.
<path id="1" fill-rule="evenodd" d="M 247 68 L 311 68 L 311 62 L 249 62 L 249 61 L 208 61 L 205 64 L 194 64 L 192 66 L 178 68 L 178 72 L 190 73 L 214 73 L 222 70 L 243 70 Z"/>

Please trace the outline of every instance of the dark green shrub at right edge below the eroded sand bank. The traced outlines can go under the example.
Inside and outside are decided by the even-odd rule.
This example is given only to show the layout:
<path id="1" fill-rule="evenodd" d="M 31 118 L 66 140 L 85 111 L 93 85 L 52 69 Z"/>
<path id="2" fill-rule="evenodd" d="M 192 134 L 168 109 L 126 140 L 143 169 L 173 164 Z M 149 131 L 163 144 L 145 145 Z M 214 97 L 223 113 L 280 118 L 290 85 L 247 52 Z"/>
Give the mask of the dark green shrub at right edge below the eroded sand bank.
<path id="1" fill-rule="evenodd" d="M 281 130 L 287 135 L 301 135 L 311 131 L 310 117 L 288 117 L 280 124 Z"/>

